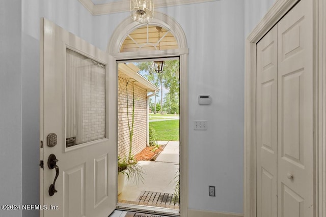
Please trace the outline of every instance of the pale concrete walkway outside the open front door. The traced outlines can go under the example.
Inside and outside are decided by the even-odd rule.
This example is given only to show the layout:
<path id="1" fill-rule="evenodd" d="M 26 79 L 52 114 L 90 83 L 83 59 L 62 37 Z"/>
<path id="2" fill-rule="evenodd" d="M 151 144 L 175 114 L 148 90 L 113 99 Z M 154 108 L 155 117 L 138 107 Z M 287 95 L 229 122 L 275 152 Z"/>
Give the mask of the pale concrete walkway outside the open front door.
<path id="1" fill-rule="evenodd" d="M 179 141 L 159 141 L 158 144 L 167 144 L 155 161 L 139 161 L 144 172 L 144 183 L 125 181 L 122 193 L 118 200 L 135 201 L 142 191 L 162 192 L 173 194 L 176 172 L 179 168 Z"/>

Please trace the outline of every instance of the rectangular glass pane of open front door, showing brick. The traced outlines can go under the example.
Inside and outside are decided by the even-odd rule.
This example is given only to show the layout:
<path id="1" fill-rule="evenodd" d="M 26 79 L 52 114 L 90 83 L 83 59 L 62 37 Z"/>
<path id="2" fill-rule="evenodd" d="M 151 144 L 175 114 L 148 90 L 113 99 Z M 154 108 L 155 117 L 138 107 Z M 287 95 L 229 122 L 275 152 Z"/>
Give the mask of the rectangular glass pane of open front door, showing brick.
<path id="1" fill-rule="evenodd" d="M 105 68 L 67 49 L 67 138 L 76 144 L 105 138 Z"/>

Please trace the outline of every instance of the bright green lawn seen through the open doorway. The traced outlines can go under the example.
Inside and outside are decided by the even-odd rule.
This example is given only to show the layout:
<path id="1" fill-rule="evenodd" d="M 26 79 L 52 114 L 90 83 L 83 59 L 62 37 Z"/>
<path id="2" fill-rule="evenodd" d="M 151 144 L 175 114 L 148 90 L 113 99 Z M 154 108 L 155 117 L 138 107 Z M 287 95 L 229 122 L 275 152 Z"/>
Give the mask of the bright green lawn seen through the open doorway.
<path id="1" fill-rule="evenodd" d="M 179 120 L 149 122 L 159 141 L 179 141 Z"/>

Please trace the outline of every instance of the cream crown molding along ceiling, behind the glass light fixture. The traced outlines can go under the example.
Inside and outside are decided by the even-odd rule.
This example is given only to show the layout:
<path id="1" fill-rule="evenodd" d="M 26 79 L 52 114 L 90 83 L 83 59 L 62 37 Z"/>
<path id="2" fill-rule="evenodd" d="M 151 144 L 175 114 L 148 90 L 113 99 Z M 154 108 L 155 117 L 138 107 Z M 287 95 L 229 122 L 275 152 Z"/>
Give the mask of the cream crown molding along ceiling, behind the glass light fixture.
<path id="1" fill-rule="evenodd" d="M 93 16 L 96 15 L 104 15 L 104 14 L 113 14 L 119 12 L 128 12 L 130 10 L 130 1 L 129 0 L 121 0 L 119 2 L 107 3 L 94 5 L 92 0 L 78 0 Z M 154 6 L 156 8 L 164 8 L 171 6 L 179 6 L 179 5 L 189 5 L 189 4 L 198 4 L 205 2 L 215 2 L 219 0 L 154 0 Z"/>

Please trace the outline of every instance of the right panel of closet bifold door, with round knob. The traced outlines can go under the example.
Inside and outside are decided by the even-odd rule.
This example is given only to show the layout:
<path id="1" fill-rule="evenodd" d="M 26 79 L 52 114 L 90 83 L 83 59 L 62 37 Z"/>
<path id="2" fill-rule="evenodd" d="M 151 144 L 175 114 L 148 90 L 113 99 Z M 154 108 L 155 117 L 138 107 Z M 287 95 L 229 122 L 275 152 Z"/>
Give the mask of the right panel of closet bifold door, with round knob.
<path id="1" fill-rule="evenodd" d="M 278 23 L 278 216 L 313 216 L 312 3 Z"/>

